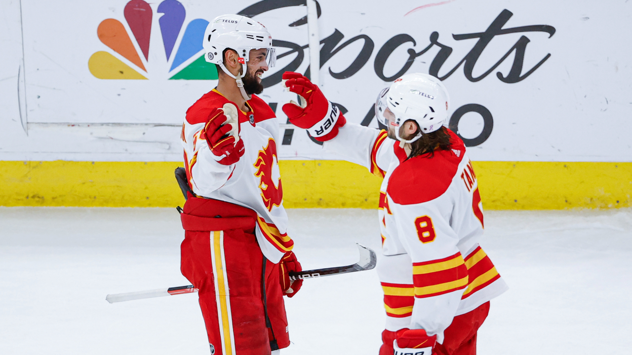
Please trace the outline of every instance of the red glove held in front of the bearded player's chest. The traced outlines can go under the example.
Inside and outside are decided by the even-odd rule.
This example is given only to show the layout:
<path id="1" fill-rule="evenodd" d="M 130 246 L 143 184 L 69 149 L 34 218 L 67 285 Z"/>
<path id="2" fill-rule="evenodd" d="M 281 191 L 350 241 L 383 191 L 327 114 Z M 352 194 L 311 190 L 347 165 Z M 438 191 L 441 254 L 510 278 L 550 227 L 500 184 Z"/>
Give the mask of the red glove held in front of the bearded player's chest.
<path id="1" fill-rule="evenodd" d="M 235 144 L 235 136 L 239 137 L 239 123 L 236 124 L 236 135 L 230 135 L 231 131 L 234 131 L 234 126 L 222 109 L 210 112 L 209 121 L 204 126 L 204 137 L 219 164 L 234 164 L 245 151 L 243 140 L 240 139 Z"/>

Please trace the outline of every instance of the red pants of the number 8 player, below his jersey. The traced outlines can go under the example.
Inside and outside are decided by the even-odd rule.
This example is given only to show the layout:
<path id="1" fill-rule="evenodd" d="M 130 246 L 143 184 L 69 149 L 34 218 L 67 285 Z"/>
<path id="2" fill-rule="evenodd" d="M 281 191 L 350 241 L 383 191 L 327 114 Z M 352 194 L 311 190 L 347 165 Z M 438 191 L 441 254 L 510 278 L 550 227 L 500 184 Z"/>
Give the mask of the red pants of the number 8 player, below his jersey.
<path id="1" fill-rule="evenodd" d="M 487 313 L 489 313 L 489 302 L 481 304 L 473 311 L 455 316 L 444 332 L 443 344 L 437 343 L 432 355 L 476 355 L 476 335 L 478 328 L 485 322 Z M 384 344 L 380 347 L 380 355 L 393 354 L 393 340 L 395 340 L 395 332 L 384 330 L 382 333 Z"/>

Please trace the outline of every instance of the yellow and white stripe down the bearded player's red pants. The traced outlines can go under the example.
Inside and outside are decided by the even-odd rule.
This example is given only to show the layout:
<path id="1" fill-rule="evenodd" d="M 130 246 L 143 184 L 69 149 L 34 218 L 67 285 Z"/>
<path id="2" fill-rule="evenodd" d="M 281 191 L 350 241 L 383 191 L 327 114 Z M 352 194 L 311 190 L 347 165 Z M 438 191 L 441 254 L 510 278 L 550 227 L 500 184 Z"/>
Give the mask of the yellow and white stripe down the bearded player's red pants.
<path id="1" fill-rule="evenodd" d="M 216 293 L 219 298 L 219 308 L 221 314 L 221 324 L 222 324 L 222 346 L 224 347 L 225 355 L 233 355 L 232 341 L 231 341 L 231 319 L 228 314 L 228 289 L 226 289 L 226 273 L 224 270 L 225 262 L 224 255 L 222 253 L 222 239 L 224 237 L 224 232 L 214 231 L 213 232 L 213 246 L 215 252 L 215 277 L 217 279 L 217 289 Z"/>

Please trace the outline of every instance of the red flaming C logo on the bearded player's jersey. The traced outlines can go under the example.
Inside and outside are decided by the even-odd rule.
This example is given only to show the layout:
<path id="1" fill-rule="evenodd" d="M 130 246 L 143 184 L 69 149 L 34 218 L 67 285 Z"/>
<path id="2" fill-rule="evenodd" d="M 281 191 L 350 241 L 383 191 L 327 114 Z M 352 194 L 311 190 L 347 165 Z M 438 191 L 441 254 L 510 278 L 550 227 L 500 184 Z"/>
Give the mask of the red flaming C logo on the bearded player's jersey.
<path id="1" fill-rule="evenodd" d="M 265 207 L 272 211 L 272 207 L 280 206 L 283 201 L 283 187 L 281 187 L 281 173 L 277 160 L 276 143 L 272 138 L 268 140 L 267 147 L 259 151 L 255 161 L 257 172 L 255 176 L 261 179 L 259 188 Z"/>

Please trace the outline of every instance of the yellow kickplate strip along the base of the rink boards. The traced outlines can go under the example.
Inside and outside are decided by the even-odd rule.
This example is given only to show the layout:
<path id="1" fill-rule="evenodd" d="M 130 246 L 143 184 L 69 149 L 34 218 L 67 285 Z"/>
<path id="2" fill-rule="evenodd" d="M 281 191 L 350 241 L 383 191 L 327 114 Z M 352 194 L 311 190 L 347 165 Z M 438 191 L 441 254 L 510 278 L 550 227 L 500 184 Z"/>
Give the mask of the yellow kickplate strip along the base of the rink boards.
<path id="1" fill-rule="evenodd" d="M 632 207 L 632 162 L 472 165 L 485 210 Z M 183 162 L 0 161 L 0 205 L 173 208 L 185 202 L 173 178 L 179 166 Z M 360 165 L 281 160 L 279 169 L 285 208 L 378 208 L 382 179 Z"/>

